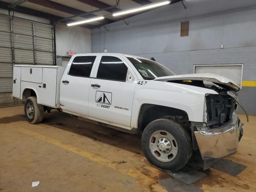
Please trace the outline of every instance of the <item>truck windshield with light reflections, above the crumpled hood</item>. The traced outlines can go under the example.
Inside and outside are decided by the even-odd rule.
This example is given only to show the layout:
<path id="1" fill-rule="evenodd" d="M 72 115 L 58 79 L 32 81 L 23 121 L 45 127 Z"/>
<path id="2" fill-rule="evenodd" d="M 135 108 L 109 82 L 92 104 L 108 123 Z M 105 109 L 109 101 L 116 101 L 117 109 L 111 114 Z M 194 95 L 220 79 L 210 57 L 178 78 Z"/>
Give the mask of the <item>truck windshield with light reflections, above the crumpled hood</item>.
<path id="1" fill-rule="evenodd" d="M 134 57 L 127 58 L 146 80 L 152 80 L 162 76 L 175 75 L 171 70 L 155 61 Z"/>

